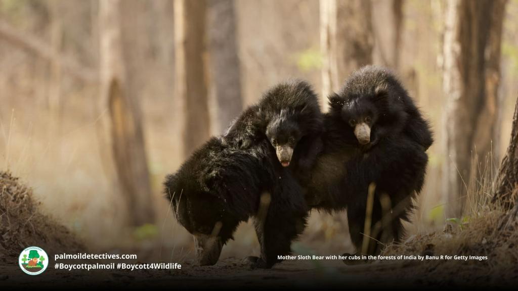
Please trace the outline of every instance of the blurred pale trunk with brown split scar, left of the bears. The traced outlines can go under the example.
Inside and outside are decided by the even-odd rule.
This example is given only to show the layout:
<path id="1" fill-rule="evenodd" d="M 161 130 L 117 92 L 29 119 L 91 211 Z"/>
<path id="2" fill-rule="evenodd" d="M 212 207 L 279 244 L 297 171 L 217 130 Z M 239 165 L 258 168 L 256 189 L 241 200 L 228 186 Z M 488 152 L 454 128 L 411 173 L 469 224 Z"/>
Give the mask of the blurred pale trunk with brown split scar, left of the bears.
<path id="1" fill-rule="evenodd" d="M 108 109 L 102 149 L 111 147 L 106 154 L 114 159 L 110 173 L 126 200 L 131 225 L 139 226 L 153 223 L 154 211 L 138 100 L 127 85 L 120 5 L 119 0 L 99 1 L 100 108 Z"/>

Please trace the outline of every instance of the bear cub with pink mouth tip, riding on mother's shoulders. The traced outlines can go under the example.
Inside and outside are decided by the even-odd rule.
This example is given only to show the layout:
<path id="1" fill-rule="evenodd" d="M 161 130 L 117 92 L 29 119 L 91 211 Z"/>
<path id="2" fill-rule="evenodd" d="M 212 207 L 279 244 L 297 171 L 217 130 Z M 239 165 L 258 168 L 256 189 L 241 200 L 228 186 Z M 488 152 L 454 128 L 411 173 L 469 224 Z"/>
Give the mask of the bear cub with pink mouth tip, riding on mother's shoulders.
<path id="1" fill-rule="evenodd" d="M 311 85 L 294 80 L 267 91 L 257 105 L 233 122 L 223 139 L 241 149 L 268 140 L 279 163 L 299 181 L 306 181 L 322 150 L 322 120 L 318 96 Z"/>

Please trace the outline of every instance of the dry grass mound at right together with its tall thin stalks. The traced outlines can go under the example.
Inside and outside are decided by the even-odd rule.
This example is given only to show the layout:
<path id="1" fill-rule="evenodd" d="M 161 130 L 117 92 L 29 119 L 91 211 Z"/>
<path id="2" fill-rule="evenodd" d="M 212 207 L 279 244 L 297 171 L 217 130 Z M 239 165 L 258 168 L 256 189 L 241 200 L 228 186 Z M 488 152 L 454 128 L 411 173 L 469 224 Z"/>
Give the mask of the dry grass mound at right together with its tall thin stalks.
<path id="1" fill-rule="evenodd" d="M 492 153 L 472 157 L 472 177 L 466 180 L 464 213 L 445 217 L 442 231 L 414 234 L 403 243 L 388 245 L 383 255 L 487 256 L 485 260 L 428 260 L 416 273 L 442 275 L 469 282 L 486 277 L 505 284 L 518 278 L 518 213 L 491 202 L 495 165 Z M 465 181 L 465 179 L 463 179 Z M 518 197 L 518 187 L 511 199 Z M 502 280 L 502 281 L 498 281 Z"/>

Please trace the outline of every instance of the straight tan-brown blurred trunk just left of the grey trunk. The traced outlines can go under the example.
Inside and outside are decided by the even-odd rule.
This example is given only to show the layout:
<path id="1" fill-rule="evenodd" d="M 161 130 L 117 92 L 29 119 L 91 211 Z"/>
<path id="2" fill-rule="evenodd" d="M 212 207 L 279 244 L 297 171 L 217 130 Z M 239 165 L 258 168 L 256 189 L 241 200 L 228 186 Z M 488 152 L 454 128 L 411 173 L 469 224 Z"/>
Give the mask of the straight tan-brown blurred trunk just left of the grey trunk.
<path id="1" fill-rule="evenodd" d="M 205 17 L 206 2 L 175 0 L 176 98 L 182 112 L 183 153 L 191 154 L 209 137 Z"/>

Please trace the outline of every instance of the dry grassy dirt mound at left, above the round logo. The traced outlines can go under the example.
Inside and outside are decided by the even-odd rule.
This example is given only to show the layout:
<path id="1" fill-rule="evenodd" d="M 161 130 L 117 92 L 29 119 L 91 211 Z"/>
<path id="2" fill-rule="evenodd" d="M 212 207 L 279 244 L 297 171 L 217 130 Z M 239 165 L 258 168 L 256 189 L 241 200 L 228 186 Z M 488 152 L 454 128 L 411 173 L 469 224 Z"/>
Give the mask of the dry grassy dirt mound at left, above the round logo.
<path id="1" fill-rule="evenodd" d="M 17 264 L 28 246 L 38 246 L 48 254 L 86 250 L 66 227 L 41 213 L 39 205 L 30 187 L 0 171 L 0 265 Z"/>

